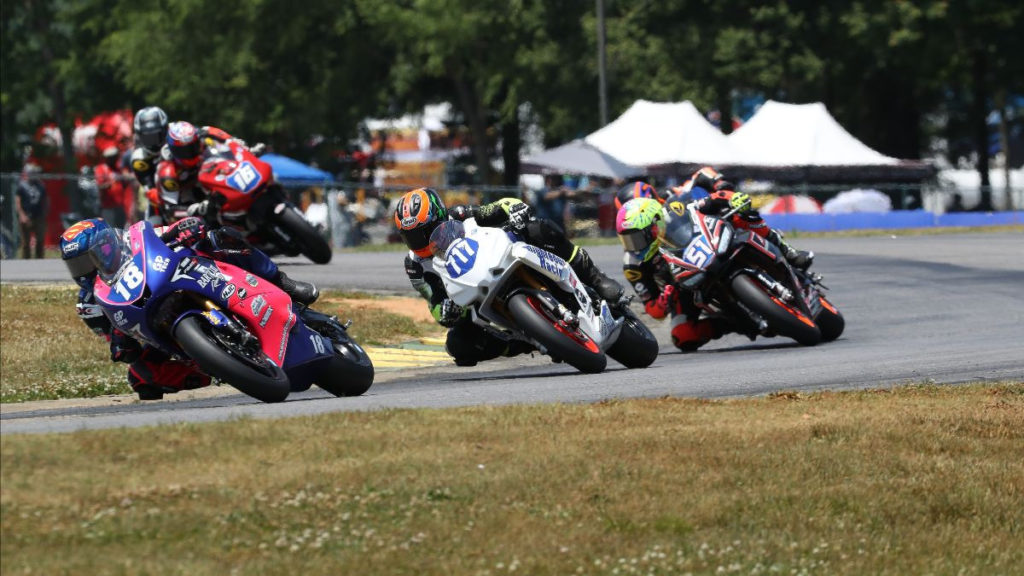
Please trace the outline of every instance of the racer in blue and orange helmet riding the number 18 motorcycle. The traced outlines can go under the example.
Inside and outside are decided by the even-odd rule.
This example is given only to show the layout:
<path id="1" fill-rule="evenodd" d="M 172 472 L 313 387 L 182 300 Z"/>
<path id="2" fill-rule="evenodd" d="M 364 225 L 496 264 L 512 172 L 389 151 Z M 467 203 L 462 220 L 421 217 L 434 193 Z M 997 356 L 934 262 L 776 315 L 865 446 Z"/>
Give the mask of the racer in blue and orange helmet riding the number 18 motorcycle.
<path id="1" fill-rule="evenodd" d="M 124 362 L 128 367 L 128 383 L 139 400 L 160 400 L 164 394 L 174 394 L 210 384 L 193 362 L 171 359 L 164 352 L 146 346 L 115 329 L 103 315 L 93 293 L 96 265 L 89 251 L 102 231 L 113 230 L 102 218 L 90 218 L 72 224 L 60 235 L 60 257 L 79 286 L 76 311 L 78 317 L 111 345 L 111 361 Z M 312 303 L 319 295 L 312 284 L 292 280 L 281 272 L 266 254 L 249 246 L 234 231 L 207 231 L 200 218 L 183 218 L 174 224 L 158 229 L 165 242 L 189 246 L 215 259 L 223 260 L 269 280 L 292 296 L 296 302 Z"/>

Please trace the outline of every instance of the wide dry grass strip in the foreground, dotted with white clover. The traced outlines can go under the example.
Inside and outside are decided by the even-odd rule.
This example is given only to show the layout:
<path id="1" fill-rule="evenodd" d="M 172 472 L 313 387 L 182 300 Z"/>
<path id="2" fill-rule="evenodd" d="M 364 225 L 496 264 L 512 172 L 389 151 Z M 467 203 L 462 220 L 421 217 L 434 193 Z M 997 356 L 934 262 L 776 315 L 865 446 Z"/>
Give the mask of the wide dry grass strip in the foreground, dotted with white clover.
<path id="1" fill-rule="evenodd" d="M 5 573 L 1010 574 L 1024 383 L 0 439 Z"/>

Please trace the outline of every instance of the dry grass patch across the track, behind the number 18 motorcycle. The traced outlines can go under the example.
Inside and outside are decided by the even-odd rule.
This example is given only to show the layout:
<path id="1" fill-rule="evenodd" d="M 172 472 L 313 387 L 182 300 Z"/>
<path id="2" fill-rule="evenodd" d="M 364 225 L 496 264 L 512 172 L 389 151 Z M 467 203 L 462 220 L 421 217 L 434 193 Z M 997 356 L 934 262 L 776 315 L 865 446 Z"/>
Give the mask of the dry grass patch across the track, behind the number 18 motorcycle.
<path id="1" fill-rule="evenodd" d="M 110 361 L 105 340 L 75 314 L 77 288 L 0 286 L 0 402 L 127 394 L 127 365 Z M 314 307 L 351 319 L 364 344 L 387 344 L 436 331 L 432 323 L 358 305 L 358 292 L 327 290 Z"/>

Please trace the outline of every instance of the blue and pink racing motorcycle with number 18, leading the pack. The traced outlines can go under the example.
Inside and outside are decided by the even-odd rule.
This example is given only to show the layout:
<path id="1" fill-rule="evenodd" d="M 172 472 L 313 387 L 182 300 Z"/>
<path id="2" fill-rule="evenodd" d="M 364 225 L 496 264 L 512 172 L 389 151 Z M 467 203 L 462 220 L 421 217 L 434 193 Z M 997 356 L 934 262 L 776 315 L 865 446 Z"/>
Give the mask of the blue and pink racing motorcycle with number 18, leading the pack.
<path id="1" fill-rule="evenodd" d="M 190 248 L 153 224 L 103 231 L 90 247 L 96 300 L 114 326 L 263 402 L 315 383 L 359 396 L 374 379 L 366 351 L 334 317 L 298 306 L 269 281 Z"/>

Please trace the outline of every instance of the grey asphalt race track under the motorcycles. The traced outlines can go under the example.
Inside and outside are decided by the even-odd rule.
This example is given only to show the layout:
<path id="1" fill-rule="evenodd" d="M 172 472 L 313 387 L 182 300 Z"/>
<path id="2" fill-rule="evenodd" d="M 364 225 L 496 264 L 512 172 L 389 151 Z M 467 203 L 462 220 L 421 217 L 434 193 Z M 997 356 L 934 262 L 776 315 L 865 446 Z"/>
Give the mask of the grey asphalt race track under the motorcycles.
<path id="1" fill-rule="evenodd" d="M 801 347 L 782 338 L 752 342 L 731 335 L 699 352 L 681 354 L 671 344 L 668 324 L 655 322 L 650 325 L 662 342 L 662 355 L 644 370 L 626 370 L 609 361 L 606 372 L 582 375 L 546 357 L 526 356 L 475 368 L 453 365 L 383 374 L 366 396 L 351 399 L 314 389 L 276 405 L 228 394 L 181 402 L 5 409 L 0 413 L 0 431 L 71 431 L 381 408 L 716 398 L 778 389 L 1024 379 L 1024 235 L 816 238 L 795 244 L 814 250 L 814 270 L 824 276 L 830 299 L 846 317 L 846 332 L 835 342 Z M 590 251 L 602 268 L 618 274 L 617 246 Z M 328 265 L 291 259 L 284 269 L 324 287 L 411 294 L 402 257 L 399 252 L 338 253 Z M 4 260 L 0 280 L 70 284 L 58 260 Z M 83 330 L 83 337 L 88 336 Z"/>

